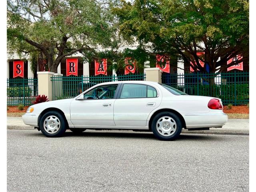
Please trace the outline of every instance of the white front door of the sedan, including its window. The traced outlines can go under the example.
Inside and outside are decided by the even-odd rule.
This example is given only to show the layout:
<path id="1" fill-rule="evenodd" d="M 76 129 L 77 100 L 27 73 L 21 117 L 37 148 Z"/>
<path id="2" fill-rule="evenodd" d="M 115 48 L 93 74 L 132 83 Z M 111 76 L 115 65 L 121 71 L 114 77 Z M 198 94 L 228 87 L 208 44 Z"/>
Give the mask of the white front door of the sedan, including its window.
<path id="1" fill-rule="evenodd" d="M 70 118 L 75 128 L 114 126 L 113 105 L 118 84 L 98 86 L 84 93 L 84 100 L 73 100 Z"/>

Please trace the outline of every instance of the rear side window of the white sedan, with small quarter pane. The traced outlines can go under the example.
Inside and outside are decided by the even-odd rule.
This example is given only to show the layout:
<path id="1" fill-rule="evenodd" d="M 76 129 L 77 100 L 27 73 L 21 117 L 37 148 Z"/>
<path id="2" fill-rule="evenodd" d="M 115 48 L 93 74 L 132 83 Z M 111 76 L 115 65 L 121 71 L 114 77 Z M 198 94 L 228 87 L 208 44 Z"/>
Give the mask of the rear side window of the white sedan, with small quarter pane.
<path id="1" fill-rule="evenodd" d="M 120 98 L 147 98 L 156 97 L 155 88 L 142 84 L 124 84 Z"/>

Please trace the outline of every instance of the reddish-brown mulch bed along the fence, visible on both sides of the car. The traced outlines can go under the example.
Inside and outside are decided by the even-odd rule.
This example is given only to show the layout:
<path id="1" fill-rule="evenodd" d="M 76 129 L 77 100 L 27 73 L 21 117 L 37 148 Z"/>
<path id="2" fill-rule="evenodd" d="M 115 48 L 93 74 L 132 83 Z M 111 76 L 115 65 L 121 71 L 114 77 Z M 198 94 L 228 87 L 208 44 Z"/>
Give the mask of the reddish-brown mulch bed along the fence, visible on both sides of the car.
<path id="1" fill-rule="evenodd" d="M 26 112 L 28 106 L 24 107 L 24 110 L 18 110 L 17 106 L 8 106 L 9 110 L 8 113 L 16 113 L 16 112 Z M 224 113 L 242 113 L 242 114 L 249 114 L 249 108 L 247 106 L 232 106 L 231 109 L 227 109 L 227 106 L 224 106 Z"/>

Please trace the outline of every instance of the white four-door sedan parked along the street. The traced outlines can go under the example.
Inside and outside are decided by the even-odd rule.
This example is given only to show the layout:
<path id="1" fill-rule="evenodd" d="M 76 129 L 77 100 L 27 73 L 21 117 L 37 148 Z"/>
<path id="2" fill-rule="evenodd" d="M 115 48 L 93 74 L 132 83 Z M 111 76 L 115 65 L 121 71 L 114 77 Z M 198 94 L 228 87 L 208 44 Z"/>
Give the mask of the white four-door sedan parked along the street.
<path id="1" fill-rule="evenodd" d="M 228 120 L 218 98 L 191 96 L 148 81 L 97 84 L 75 98 L 32 105 L 22 116 L 48 137 L 66 129 L 148 130 L 160 140 L 174 140 L 182 128 L 208 130 Z"/>

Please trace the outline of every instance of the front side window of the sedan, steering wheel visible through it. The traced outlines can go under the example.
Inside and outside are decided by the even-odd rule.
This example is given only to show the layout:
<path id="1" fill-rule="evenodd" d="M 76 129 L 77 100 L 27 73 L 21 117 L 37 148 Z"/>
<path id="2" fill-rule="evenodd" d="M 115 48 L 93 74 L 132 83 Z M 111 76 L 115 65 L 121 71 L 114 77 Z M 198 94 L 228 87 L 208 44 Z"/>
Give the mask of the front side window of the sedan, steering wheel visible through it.
<path id="1" fill-rule="evenodd" d="M 96 87 L 84 94 L 84 99 L 112 99 L 116 93 L 116 84 Z"/>

